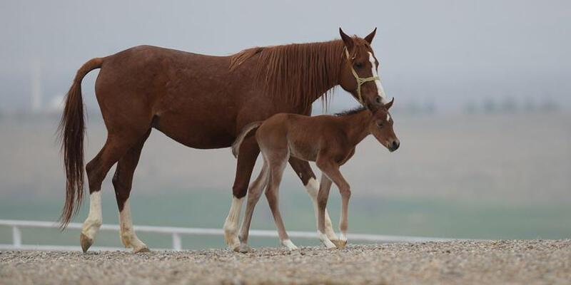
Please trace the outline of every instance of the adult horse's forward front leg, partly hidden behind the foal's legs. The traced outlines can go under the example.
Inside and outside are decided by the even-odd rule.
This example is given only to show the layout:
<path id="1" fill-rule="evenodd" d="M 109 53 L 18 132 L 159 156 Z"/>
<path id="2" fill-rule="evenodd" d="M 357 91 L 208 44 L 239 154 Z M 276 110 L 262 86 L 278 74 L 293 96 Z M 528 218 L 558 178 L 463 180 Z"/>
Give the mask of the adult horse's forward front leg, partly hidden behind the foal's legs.
<path id="1" fill-rule="evenodd" d="M 313 212 L 315 214 L 315 224 L 318 220 L 318 205 L 317 205 L 317 193 L 319 191 L 319 183 L 315 180 L 315 174 L 309 165 L 309 162 L 305 160 L 300 160 L 295 157 L 290 157 L 290 165 L 293 168 L 298 177 L 300 177 L 301 182 L 305 185 L 305 190 L 308 191 L 308 195 L 313 202 Z M 331 224 L 331 219 L 327 209 L 325 209 L 325 234 L 327 234 L 328 239 L 333 243 L 337 242 L 338 238 L 333 230 L 333 225 Z"/>

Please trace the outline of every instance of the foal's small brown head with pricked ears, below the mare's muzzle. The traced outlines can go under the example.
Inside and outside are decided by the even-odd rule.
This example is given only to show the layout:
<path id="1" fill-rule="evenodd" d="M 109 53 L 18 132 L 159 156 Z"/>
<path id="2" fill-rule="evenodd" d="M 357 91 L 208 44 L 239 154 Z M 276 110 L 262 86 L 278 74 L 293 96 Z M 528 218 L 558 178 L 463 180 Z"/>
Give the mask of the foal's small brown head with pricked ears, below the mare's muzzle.
<path id="1" fill-rule="evenodd" d="M 385 147 L 393 152 L 400 146 L 400 141 L 395 135 L 395 130 L 393 130 L 393 116 L 388 113 L 388 109 L 393 106 L 393 100 L 386 103 L 382 107 L 378 108 L 375 113 L 371 116 L 369 123 L 369 130 L 375 138 Z"/>

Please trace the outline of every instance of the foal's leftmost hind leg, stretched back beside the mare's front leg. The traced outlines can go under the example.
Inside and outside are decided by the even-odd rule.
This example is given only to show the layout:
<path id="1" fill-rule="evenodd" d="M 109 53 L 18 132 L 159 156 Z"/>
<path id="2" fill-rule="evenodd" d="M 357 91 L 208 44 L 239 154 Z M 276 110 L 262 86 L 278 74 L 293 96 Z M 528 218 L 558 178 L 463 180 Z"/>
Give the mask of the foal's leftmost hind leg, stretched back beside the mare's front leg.
<path id="1" fill-rule="evenodd" d="M 258 175 L 258 178 L 250 185 L 250 189 L 248 189 L 248 203 L 246 204 L 246 212 L 244 213 L 244 220 L 242 221 L 240 235 L 238 236 L 241 242 L 240 252 L 246 253 L 251 250 L 250 247 L 248 247 L 248 232 L 250 231 L 252 214 L 266 185 L 268 185 L 268 163 L 264 160 L 260 175 Z"/>

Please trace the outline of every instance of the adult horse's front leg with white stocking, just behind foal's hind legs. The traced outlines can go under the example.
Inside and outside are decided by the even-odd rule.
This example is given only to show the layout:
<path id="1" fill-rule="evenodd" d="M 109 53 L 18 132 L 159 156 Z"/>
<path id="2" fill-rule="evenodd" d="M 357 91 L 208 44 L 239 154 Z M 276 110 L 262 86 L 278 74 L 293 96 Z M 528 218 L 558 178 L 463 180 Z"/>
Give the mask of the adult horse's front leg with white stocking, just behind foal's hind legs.
<path id="1" fill-rule="evenodd" d="M 240 222 L 240 211 L 244 196 L 248 193 L 248 183 L 256 158 L 260 153 L 258 143 L 254 136 L 243 140 L 238 155 L 238 166 L 236 167 L 236 179 L 232 187 L 233 197 L 230 212 L 224 222 L 224 239 L 228 247 L 235 252 L 240 249 L 240 239 L 238 238 L 238 223 Z"/>

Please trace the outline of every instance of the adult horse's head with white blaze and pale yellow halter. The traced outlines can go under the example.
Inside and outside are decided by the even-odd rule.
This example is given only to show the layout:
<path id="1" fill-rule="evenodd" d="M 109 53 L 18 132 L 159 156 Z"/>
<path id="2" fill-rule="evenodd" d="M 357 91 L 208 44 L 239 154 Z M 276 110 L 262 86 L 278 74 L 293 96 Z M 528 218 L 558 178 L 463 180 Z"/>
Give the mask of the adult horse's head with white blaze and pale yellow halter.
<path id="1" fill-rule="evenodd" d="M 339 28 L 345 43 L 340 69 L 340 86 L 373 113 L 388 103 L 377 73 L 379 62 L 370 46 L 376 31 L 377 28 L 365 38 L 358 38 L 348 36 Z"/>

